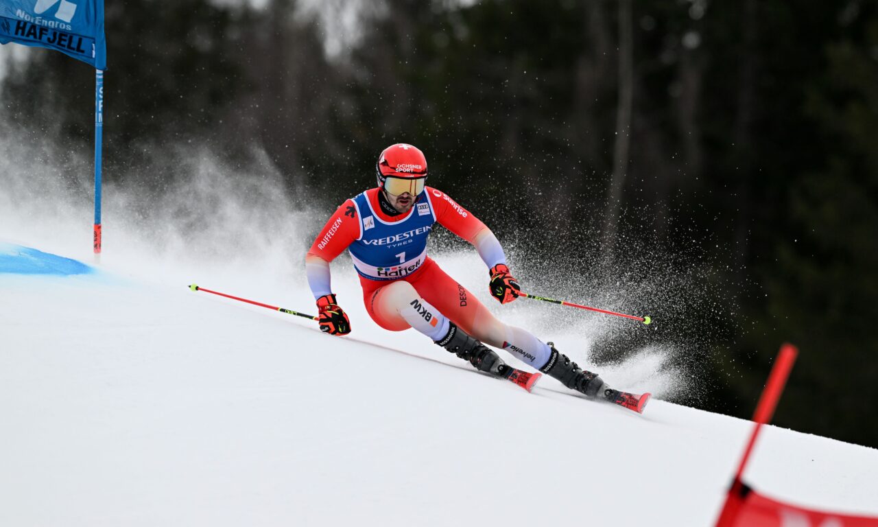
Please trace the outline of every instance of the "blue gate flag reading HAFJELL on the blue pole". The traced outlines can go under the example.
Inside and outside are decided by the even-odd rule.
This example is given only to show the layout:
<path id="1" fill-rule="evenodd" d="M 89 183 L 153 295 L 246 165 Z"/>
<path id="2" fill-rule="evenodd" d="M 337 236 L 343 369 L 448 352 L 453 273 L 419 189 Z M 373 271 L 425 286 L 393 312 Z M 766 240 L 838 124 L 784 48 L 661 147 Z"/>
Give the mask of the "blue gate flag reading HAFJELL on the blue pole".
<path id="1" fill-rule="evenodd" d="M 106 69 L 104 0 L 0 0 L 0 44 L 48 47 Z"/>

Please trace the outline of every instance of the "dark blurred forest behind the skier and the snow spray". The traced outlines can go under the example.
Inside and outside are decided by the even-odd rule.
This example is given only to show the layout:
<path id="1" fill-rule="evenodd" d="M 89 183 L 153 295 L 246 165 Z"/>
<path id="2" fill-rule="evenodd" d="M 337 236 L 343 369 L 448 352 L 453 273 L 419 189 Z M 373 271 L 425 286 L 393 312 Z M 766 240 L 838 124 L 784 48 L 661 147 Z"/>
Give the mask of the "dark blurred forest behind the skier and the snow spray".
<path id="1" fill-rule="evenodd" d="M 749 417 L 789 341 L 775 423 L 878 446 L 876 2 L 384 0 L 356 35 L 347 5 L 107 3 L 105 181 L 161 188 L 186 174 L 156 153 L 196 142 L 328 207 L 411 142 L 501 240 L 550 233 L 534 247 L 574 271 L 709 266 L 724 314 L 678 315 L 709 319 L 717 381 L 687 403 Z M 31 53 L 0 116 L 89 151 L 93 83 Z"/>

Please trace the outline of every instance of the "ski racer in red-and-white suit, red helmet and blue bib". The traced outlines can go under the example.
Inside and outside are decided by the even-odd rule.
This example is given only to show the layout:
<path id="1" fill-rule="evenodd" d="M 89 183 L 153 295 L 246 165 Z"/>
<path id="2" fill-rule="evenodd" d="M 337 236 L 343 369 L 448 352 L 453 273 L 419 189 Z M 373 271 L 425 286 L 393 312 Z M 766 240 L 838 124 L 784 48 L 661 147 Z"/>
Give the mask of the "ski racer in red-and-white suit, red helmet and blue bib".
<path id="1" fill-rule="evenodd" d="M 373 321 L 391 331 L 414 328 L 482 372 L 508 376 L 511 368 L 483 343 L 507 350 L 568 388 L 594 397 L 616 392 L 579 369 L 551 343 L 508 326 L 427 256 L 434 223 L 470 242 L 490 270 L 490 292 L 500 303 L 520 287 L 500 242 L 478 218 L 443 191 L 426 186 L 427 160 L 412 145 L 385 148 L 376 166 L 378 188 L 348 199 L 320 231 L 306 256 L 308 285 L 320 310 L 320 329 L 350 332 L 348 315 L 332 292 L 329 262 L 349 249 Z"/>

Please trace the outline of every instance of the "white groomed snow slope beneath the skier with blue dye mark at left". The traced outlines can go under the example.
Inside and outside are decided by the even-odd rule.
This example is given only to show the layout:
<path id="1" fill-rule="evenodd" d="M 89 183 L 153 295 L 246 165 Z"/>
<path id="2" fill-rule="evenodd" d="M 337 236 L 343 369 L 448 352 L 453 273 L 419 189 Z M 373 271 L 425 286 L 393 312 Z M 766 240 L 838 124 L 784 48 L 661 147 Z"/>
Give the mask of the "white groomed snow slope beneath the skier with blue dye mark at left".
<path id="1" fill-rule="evenodd" d="M 750 430 L 553 379 L 526 393 L 374 327 L 353 278 L 339 338 L 185 287 L 312 305 L 259 277 L 25 274 L 22 252 L 0 247 L 0 525 L 709 525 Z M 602 376 L 668 382 L 631 366 Z M 766 427 L 745 476 L 878 516 L 876 473 L 874 449 Z"/>

